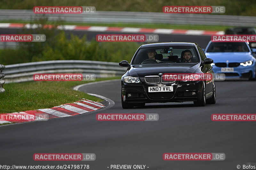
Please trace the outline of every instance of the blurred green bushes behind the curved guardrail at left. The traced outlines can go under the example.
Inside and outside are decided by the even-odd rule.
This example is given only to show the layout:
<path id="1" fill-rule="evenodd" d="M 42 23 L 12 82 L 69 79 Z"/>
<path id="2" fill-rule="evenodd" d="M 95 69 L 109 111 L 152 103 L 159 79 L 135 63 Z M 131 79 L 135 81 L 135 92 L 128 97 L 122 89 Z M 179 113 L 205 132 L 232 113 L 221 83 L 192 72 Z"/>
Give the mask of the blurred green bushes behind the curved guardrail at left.
<path id="1" fill-rule="evenodd" d="M 17 49 L 0 50 L 1 64 L 27 63 L 46 60 L 94 60 L 120 62 L 132 59 L 137 48 L 136 42 L 86 41 L 86 35 L 66 35 L 54 26 L 46 27 L 46 19 L 33 21 L 36 29 L 22 29 L 21 34 L 45 34 L 45 42 L 20 42 Z M 32 26 L 32 24 L 31 24 Z M 46 28 L 45 28 L 46 27 Z"/>

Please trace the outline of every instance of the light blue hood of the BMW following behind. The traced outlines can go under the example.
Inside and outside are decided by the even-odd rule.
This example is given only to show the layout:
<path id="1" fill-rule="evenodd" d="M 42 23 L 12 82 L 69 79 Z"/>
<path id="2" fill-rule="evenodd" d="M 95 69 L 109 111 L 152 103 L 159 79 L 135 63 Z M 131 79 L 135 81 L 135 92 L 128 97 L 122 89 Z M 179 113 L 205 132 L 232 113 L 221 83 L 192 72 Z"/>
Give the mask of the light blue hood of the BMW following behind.
<path id="1" fill-rule="evenodd" d="M 207 58 L 211 58 L 214 63 L 245 62 L 252 60 L 250 52 L 210 52 L 205 53 Z"/>

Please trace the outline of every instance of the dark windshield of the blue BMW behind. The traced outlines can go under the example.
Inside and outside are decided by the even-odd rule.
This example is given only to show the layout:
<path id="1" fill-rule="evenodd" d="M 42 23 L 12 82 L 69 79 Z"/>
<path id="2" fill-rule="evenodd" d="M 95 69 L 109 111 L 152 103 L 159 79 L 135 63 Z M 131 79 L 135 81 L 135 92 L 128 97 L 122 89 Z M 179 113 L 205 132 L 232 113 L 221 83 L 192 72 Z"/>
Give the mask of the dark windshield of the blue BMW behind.
<path id="1" fill-rule="evenodd" d="M 208 52 L 249 52 L 246 42 L 212 42 Z"/>

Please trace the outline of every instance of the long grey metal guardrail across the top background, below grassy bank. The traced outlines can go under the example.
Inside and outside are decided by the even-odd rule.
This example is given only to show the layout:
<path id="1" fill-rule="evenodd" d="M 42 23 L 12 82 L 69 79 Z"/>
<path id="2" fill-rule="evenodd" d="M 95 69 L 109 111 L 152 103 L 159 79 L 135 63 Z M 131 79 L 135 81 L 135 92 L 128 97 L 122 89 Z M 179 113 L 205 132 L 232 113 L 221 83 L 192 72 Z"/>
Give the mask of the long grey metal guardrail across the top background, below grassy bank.
<path id="1" fill-rule="evenodd" d="M 0 20 L 27 20 L 43 14 L 32 10 L 0 10 Z M 49 20 L 73 23 L 151 23 L 181 25 L 256 26 L 256 17 L 216 14 L 168 14 L 163 12 L 97 11 L 86 14 L 45 14 Z"/>

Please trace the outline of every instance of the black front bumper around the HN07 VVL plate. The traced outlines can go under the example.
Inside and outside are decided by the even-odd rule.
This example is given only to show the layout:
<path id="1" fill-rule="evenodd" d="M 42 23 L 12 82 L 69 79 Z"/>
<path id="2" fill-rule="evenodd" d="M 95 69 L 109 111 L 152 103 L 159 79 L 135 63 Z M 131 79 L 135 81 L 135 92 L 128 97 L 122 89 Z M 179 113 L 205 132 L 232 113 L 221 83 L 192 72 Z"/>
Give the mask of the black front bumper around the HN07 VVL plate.
<path id="1" fill-rule="evenodd" d="M 148 92 L 152 86 L 173 86 L 173 92 Z M 122 97 L 126 103 L 167 103 L 201 100 L 203 81 L 187 84 L 179 81 L 170 84 L 124 83 L 122 80 Z M 196 95 L 192 95 L 196 92 Z M 128 97 L 131 94 L 131 97 Z"/>

